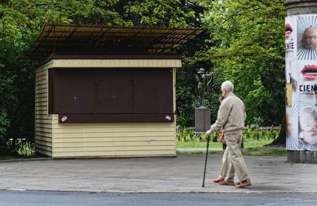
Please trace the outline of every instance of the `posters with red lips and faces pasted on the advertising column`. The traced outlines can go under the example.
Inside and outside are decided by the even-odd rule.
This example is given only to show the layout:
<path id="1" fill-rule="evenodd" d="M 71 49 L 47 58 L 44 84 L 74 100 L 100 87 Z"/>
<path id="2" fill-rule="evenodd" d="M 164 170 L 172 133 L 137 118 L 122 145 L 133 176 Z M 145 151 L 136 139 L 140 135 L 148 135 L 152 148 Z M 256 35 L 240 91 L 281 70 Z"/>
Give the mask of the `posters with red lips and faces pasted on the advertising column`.
<path id="1" fill-rule="evenodd" d="M 285 60 L 286 149 L 317 150 L 317 15 L 286 18 Z"/>

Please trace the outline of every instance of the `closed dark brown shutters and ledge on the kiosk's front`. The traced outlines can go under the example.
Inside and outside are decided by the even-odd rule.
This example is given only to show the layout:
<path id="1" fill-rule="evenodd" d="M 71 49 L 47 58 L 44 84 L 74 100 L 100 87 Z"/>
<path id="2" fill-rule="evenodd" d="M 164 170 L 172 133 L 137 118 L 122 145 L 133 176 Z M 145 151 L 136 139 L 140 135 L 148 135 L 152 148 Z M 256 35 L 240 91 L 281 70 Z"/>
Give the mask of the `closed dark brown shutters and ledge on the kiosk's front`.
<path id="1" fill-rule="evenodd" d="M 49 76 L 59 123 L 173 121 L 172 69 L 58 68 Z"/>

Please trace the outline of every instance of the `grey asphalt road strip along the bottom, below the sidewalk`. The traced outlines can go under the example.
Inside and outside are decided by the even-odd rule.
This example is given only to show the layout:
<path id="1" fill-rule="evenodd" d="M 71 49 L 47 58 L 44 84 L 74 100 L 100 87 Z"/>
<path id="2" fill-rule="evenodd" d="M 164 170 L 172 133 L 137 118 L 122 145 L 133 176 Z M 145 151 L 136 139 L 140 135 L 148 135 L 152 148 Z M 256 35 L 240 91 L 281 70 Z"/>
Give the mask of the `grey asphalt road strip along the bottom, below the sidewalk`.
<path id="1" fill-rule="evenodd" d="M 317 206 L 317 194 L 117 194 L 0 191 L 0 206 Z"/>

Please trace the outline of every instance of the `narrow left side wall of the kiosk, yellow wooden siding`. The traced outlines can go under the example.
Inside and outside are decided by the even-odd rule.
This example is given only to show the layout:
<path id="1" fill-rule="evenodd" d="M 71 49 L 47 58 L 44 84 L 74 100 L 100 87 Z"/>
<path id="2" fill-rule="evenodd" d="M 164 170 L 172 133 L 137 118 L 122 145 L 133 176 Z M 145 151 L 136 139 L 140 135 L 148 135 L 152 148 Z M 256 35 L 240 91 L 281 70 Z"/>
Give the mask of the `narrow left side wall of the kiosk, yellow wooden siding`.
<path id="1" fill-rule="evenodd" d="M 48 69 L 53 60 L 36 69 L 35 74 L 35 146 L 36 152 L 52 156 L 52 115 L 48 115 Z"/>

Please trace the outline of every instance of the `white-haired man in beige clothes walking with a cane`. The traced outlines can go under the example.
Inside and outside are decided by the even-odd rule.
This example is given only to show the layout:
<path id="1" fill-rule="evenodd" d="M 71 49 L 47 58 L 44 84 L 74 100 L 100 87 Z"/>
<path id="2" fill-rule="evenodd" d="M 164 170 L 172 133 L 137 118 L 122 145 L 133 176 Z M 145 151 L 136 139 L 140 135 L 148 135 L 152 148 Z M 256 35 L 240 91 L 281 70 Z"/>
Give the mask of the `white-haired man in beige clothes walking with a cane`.
<path id="1" fill-rule="evenodd" d="M 246 119 L 246 112 L 244 103 L 233 94 L 233 84 L 230 81 L 225 81 L 221 85 L 221 93 L 224 99 L 220 104 L 218 110 L 218 117 L 211 129 L 206 132 L 210 135 L 222 129 L 226 140 L 226 150 L 224 154 L 228 155 L 228 163 L 226 166 L 226 175 L 220 185 L 235 185 L 234 173 L 237 173 L 240 183 L 236 185 L 237 188 L 243 188 L 251 185 L 248 170 L 241 154 L 242 143 L 242 129 L 244 128 L 244 121 Z"/>

